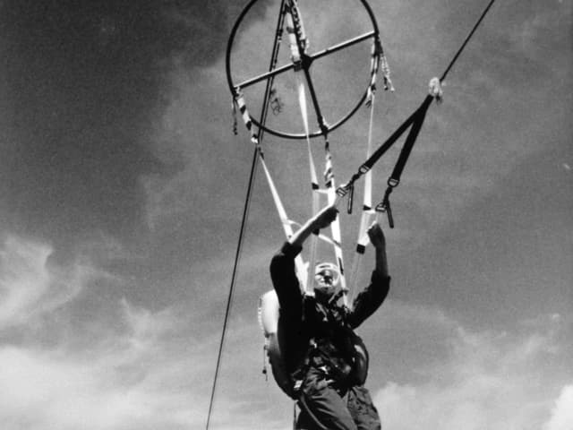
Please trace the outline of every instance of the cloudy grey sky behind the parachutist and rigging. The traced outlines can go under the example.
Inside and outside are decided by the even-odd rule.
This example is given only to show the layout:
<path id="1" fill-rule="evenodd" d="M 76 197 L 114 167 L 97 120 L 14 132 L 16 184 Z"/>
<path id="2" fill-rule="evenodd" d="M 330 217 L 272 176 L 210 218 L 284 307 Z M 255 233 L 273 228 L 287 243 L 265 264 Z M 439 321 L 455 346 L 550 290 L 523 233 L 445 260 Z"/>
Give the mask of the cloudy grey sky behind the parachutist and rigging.
<path id="1" fill-rule="evenodd" d="M 237 80 L 269 66 L 277 3 L 258 3 L 235 38 Z M 358 1 L 299 3 L 311 52 L 370 30 Z M 487 2 L 369 3 L 396 88 L 377 92 L 379 145 Z M 225 72 L 245 4 L 0 1 L 3 429 L 205 428 L 252 165 Z M 369 50 L 312 64 L 327 120 L 365 89 Z M 572 62 L 573 2 L 499 0 L 430 107 L 392 193 L 396 227 L 381 218 L 389 297 L 358 329 L 385 429 L 573 428 Z M 276 83 L 269 124 L 300 133 L 294 82 Z M 254 113 L 257 90 L 245 90 Z M 329 136 L 338 183 L 365 159 L 369 116 L 361 107 Z M 372 169 L 375 201 L 401 144 Z M 265 134 L 263 150 L 303 222 L 304 141 Z M 347 264 L 360 205 L 340 206 Z M 284 240 L 259 168 L 213 430 L 292 428 L 292 401 L 261 373 L 257 321 Z M 368 249 L 355 290 L 372 266 Z"/>

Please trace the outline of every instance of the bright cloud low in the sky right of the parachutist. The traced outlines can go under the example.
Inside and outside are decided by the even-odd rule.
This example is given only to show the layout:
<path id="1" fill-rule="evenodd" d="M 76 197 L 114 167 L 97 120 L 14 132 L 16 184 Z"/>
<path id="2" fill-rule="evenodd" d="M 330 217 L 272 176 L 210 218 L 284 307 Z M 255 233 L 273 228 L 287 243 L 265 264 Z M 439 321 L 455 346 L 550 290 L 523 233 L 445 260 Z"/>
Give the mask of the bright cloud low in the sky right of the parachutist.
<path id="1" fill-rule="evenodd" d="M 429 314 L 425 314 L 420 323 L 427 320 Z M 446 324 L 440 330 L 452 323 L 442 321 Z M 541 428 L 553 393 L 562 383 L 555 363 L 565 352 L 554 339 L 555 331 L 563 329 L 558 327 L 560 318 L 543 321 L 543 329 L 523 334 L 467 331 L 459 324 L 456 331 L 443 331 L 449 332 L 442 339 L 448 354 L 439 359 L 426 356 L 426 363 L 410 369 L 422 375 L 421 380 L 389 382 L 376 392 L 384 426 L 393 430 Z M 556 427 L 547 428 L 565 428 L 557 426 L 571 417 L 564 406 L 570 404 L 570 396 L 569 389 L 562 391 L 552 412 L 551 426 Z"/>

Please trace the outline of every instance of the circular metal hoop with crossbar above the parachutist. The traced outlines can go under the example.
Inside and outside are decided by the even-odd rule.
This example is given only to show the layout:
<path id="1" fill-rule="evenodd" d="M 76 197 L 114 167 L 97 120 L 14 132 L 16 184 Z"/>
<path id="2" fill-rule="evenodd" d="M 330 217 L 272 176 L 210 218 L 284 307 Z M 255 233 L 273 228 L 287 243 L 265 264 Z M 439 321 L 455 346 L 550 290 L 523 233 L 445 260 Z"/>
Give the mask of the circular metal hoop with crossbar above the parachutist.
<path id="1" fill-rule="evenodd" d="M 227 55 L 226 55 L 227 83 L 229 86 L 229 90 L 231 90 L 231 94 L 233 94 L 234 99 L 236 99 L 238 97 L 240 90 L 246 88 L 247 86 L 252 85 L 253 83 L 264 82 L 264 81 L 268 82 L 269 79 L 272 79 L 274 76 L 277 76 L 280 73 L 285 73 L 288 70 L 295 69 L 295 64 L 291 63 L 291 64 L 286 64 L 286 65 L 278 67 L 278 68 L 273 68 L 269 71 L 269 73 L 263 73 L 260 76 L 254 77 L 254 78 L 247 80 L 247 81 L 244 81 L 244 82 L 241 82 L 238 85 L 235 84 L 235 82 L 233 81 L 233 75 L 231 72 L 231 52 L 233 50 L 233 43 L 235 40 L 235 36 L 236 36 L 237 31 L 239 30 L 239 27 L 241 26 L 241 23 L 244 21 L 244 17 L 246 16 L 247 13 L 249 13 L 249 11 L 252 8 L 252 5 L 256 4 L 258 1 L 259 0 L 251 0 L 251 2 L 249 2 L 249 4 L 247 4 L 244 7 L 243 12 L 239 15 L 239 17 L 237 18 L 237 20 L 235 22 L 235 25 L 233 26 L 233 30 L 231 30 L 231 34 L 230 34 L 228 42 L 227 42 Z M 308 63 L 309 64 L 308 66 L 310 66 L 312 61 L 317 60 L 317 59 L 321 58 L 322 56 L 328 56 L 329 54 L 337 52 L 338 50 L 344 49 L 346 47 L 350 47 L 352 45 L 355 45 L 356 43 L 359 43 L 363 40 L 374 39 L 375 43 L 380 44 L 380 32 L 378 30 L 378 23 L 376 22 L 376 18 L 374 17 L 374 13 L 372 13 L 372 8 L 370 7 L 370 4 L 368 4 L 366 2 L 366 0 L 359 0 L 359 1 L 363 5 L 363 8 L 365 9 L 366 13 L 368 14 L 368 17 L 369 17 L 370 22 L 372 24 L 372 31 L 367 32 L 367 33 L 363 34 L 362 36 L 358 36 L 354 39 L 348 39 L 344 42 L 337 44 L 336 46 L 327 47 L 327 48 L 322 49 L 321 51 L 313 54 L 312 56 L 308 56 L 308 59 L 310 60 Z M 283 13 L 283 12 L 279 11 L 279 13 Z M 380 61 L 381 52 L 375 52 L 374 56 L 377 56 L 377 58 L 376 58 L 377 62 Z M 366 99 L 366 96 L 368 94 L 368 87 L 369 86 L 370 86 L 370 84 L 367 86 L 366 90 L 363 91 L 363 94 L 360 96 L 360 98 L 356 102 L 355 106 L 352 107 L 349 111 L 347 111 L 346 114 L 344 114 L 340 119 L 338 119 L 333 125 L 323 124 L 323 125 L 321 125 L 319 130 L 314 131 L 314 132 L 310 132 L 308 137 L 312 138 L 312 137 L 317 137 L 317 136 L 321 136 L 321 135 L 326 135 L 329 132 L 337 129 L 340 125 L 345 124 L 346 121 L 351 116 L 355 115 L 356 111 L 362 106 L 363 101 L 364 101 L 364 99 Z M 252 124 L 257 125 L 260 130 L 264 130 L 268 133 L 274 134 L 275 136 L 283 137 L 286 139 L 305 139 L 307 137 L 305 133 L 286 133 L 286 132 L 282 132 L 279 130 L 275 130 L 273 128 L 270 128 L 267 125 L 261 124 L 261 121 L 257 120 L 257 118 L 254 118 L 252 116 L 250 116 L 250 118 L 251 118 Z"/>

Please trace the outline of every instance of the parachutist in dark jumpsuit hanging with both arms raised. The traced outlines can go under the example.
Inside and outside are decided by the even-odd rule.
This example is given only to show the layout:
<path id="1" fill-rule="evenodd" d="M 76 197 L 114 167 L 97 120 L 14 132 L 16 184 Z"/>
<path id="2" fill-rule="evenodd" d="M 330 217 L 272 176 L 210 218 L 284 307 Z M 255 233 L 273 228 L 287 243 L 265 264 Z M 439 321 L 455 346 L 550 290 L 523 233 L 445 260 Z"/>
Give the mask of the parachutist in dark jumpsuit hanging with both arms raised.
<path id="1" fill-rule="evenodd" d="M 293 382 L 293 397 L 301 409 L 296 426 L 300 430 L 380 430 L 378 411 L 363 386 L 367 352 L 354 331 L 389 292 L 386 239 L 380 225 L 373 223 L 368 229 L 375 268 L 370 285 L 357 295 L 352 309 L 337 304 L 336 266 L 317 266 L 313 295 L 304 294 L 295 274 L 295 257 L 304 241 L 337 216 L 334 205 L 325 207 L 270 262 L 280 305 L 278 322 L 283 327 L 282 353 Z"/>

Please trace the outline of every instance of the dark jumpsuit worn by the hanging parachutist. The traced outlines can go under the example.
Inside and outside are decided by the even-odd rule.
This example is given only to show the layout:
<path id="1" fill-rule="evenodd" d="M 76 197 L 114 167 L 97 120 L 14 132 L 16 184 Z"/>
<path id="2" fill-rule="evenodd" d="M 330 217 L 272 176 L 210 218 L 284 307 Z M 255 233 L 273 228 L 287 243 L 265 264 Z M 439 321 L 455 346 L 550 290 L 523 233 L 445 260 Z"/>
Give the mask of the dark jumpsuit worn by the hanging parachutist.
<path id="1" fill-rule="evenodd" d="M 354 329 L 380 307 L 389 291 L 389 277 L 372 272 L 353 308 L 324 306 L 304 296 L 295 274 L 301 246 L 288 242 L 270 262 L 270 277 L 280 305 L 286 370 L 298 381 L 295 398 L 302 405 L 297 428 L 314 430 L 318 420 L 329 430 L 378 430 L 380 417 L 370 393 L 353 379 Z M 348 400 L 343 400 L 348 393 Z M 308 412 L 308 413 L 307 413 Z M 309 413 L 314 418 L 309 417 Z"/>

